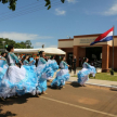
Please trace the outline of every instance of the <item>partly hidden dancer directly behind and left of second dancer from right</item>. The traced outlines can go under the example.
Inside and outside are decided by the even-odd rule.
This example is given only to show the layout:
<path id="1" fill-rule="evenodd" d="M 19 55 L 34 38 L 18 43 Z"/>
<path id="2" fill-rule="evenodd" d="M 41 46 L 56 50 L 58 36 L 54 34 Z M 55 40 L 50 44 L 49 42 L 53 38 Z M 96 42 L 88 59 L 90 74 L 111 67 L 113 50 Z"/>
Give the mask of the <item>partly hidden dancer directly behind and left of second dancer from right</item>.
<path id="1" fill-rule="evenodd" d="M 57 65 L 56 61 L 54 60 L 53 55 L 51 56 L 51 60 L 48 60 L 47 64 L 50 65 L 51 75 L 48 78 L 48 80 L 51 81 L 53 79 L 54 73 L 58 69 L 58 65 Z"/>

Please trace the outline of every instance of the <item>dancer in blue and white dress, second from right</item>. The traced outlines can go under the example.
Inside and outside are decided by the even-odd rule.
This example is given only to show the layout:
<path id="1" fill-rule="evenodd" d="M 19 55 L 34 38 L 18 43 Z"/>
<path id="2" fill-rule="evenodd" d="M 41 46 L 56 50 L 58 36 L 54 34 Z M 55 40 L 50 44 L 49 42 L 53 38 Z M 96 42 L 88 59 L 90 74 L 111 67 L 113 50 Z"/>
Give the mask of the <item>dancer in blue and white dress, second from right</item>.
<path id="1" fill-rule="evenodd" d="M 61 70 L 56 73 L 56 78 L 52 81 L 51 87 L 63 88 L 63 86 L 65 86 L 65 81 L 69 79 L 69 65 L 65 62 L 65 56 L 62 57 L 60 67 Z"/>

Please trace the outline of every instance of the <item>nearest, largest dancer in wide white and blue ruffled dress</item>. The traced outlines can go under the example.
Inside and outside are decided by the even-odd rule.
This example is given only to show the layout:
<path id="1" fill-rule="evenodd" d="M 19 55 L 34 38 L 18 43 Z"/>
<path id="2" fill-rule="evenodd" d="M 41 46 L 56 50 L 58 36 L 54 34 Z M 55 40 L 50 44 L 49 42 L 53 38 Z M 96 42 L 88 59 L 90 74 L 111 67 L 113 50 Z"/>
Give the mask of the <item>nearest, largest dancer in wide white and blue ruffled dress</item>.
<path id="1" fill-rule="evenodd" d="M 10 98 L 15 94 L 25 94 L 31 93 L 36 94 L 36 83 L 31 82 L 28 72 L 24 66 L 17 67 L 15 63 L 22 62 L 17 58 L 17 56 L 13 53 L 14 47 L 6 46 L 6 50 L 9 51 L 6 62 L 8 69 L 4 74 L 1 83 L 0 83 L 0 98 Z M 35 80 L 35 78 L 32 78 Z"/>

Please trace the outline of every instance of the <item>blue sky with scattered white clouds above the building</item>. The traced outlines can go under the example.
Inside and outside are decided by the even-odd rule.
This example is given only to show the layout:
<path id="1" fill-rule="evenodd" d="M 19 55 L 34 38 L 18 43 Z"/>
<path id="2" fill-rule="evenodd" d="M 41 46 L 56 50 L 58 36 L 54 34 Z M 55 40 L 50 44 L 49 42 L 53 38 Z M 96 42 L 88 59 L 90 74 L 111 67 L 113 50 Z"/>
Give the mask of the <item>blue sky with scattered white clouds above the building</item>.
<path id="1" fill-rule="evenodd" d="M 103 34 L 115 26 L 117 0 L 17 0 L 16 10 L 0 3 L 0 37 L 16 42 L 30 40 L 34 48 L 57 47 L 57 39 L 78 35 Z"/>

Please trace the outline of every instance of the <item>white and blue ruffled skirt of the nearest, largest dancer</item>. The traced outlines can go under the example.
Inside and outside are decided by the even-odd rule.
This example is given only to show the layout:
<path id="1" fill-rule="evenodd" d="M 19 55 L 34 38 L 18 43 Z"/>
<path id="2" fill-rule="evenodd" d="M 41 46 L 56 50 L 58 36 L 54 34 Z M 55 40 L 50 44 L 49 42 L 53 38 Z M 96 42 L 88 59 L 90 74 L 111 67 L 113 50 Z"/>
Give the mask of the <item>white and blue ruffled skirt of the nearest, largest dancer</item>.
<path id="1" fill-rule="evenodd" d="M 35 68 L 29 66 L 10 66 L 0 83 L 0 98 L 10 98 L 15 94 L 36 94 L 37 76 Z"/>

